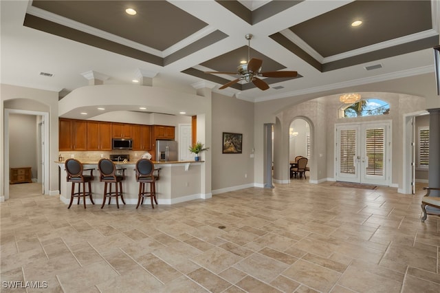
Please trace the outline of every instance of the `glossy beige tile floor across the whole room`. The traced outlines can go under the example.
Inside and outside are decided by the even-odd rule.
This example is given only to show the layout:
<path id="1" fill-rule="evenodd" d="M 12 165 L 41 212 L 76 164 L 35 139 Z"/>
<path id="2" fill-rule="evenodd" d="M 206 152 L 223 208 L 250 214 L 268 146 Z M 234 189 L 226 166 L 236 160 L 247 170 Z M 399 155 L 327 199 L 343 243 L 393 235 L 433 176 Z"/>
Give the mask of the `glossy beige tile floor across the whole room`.
<path id="1" fill-rule="evenodd" d="M 1 292 L 440 292 L 420 188 L 292 180 L 154 210 L 67 210 L 39 189 L 0 204 Z"/>

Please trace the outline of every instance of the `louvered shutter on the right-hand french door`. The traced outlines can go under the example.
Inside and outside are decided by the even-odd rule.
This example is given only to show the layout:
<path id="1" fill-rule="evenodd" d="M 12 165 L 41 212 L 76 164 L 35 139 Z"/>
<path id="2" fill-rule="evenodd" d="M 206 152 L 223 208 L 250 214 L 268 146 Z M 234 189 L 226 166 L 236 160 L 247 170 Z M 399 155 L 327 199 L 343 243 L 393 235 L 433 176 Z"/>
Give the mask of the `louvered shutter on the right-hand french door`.
<path id="1" fill-rule="evenodd" d="M 365 130 L 366 175 L 384 175 L 385 130 Z"/>

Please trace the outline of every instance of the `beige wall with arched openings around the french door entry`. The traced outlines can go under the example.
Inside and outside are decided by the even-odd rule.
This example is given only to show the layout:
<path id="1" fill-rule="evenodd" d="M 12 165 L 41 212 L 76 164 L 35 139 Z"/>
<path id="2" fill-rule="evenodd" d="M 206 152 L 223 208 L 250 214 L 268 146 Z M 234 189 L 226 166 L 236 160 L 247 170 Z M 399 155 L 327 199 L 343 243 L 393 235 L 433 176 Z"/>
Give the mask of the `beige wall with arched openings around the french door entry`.
<path id="1" fill-rule="evenodd" d="M 321 182 L 327 177 L 333 177 L 333 131 L 334 123 L 337 121 L 336 109 L 329 109 L 326 102 L 318 102 L 316 104 L 302 105 L 303 102 L 314 98 L 320 98 L 327 101 L 329 97 L 336 97 L 345 92 L 366 92 L 366 93 L 398 93 L 395 97 L 401 98 L 399 102 L 395 102 L 392 106 L 395 112 L 393 115 L 393 184 L 401 186 L 402 178 L 402 149 L 403 140 L 402 133 L 404 124 L 404 113 L 412 113 L 424 109 L 440 108 L 440 98 L 437 96 L 435 87 L 434 73 L 421 74 L 419 76 L 410 76 L 405 78 L 397 78 L 395 80 L 388 80 L 379 83 L 370 83 L 367 85 L 358 85 L 355 87 L 345 87 L 342 89 L 329 89 L 316 94 L 298 94 L 287 98 L 278 100 L 270 100 L 257 102 L 254 111 L 254 136 L 255 136 L 255 166 L 254 166 L 254 181 L 257 185 L 264 184 L 264 170 L 263 170 L 263 124 L 275 123 L 276 118 L 281 120 L 283 127 L 283 135 L 288 135 L 288 127 L 290 122 L 295 117 L 304 116 L 307 111 L 307 116 L 311 119 L 311 135 L 312 143 L 314 142 L 314 149 L 312 152 L 317 154 L 311 158 L 311 180 L 312 182 Z M 393 95 L 393 94 L 391 94 Z M 418 97 L 413 99 L 412 97 Z M 397 107 L 397 109 L 395 108 Z M 396 114 L 398 113 L 398 114 Z M 329 123 L 328 120 L 333 120 Z M 375 118 L 371 118 L 375 119 Z M 325 129 L 325 130 L 324 130 Z M 329 132 L 331 131 L 331 132 Z M 331 134 L 330 134 L 331 133 Z M 274 142 L 275 144 L 275 142 Z M 274 149 L 274 153 L 283 156 L 284 162 L 288 160 L 288 144 L 287 142 L 281 144 L 281 149 Z M 322 155 L 322 156 L 320 156 Z M 283 162 L 279 160 L 279 162 Z M 400 164 L 395 165 L 395 164 Z M 279 171 L 274 170 L 274 180 L 285 182 L 288 178 L 287 163 L 285 166 L 278 164 Z M 316 170 L 316 173 L 314 173 Z"/>

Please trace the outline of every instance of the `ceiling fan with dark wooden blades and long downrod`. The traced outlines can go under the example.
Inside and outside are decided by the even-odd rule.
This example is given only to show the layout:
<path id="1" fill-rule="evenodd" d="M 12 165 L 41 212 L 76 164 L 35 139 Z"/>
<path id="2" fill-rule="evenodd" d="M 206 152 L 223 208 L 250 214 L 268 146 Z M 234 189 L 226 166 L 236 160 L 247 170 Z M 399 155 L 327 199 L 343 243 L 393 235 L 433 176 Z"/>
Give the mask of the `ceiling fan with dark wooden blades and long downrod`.
<path id="1" fill-rule="evenodd" d="M 237 67 L 237 72 L 205 72 L 206 74 L 239 74 L 240 77 L 234 80 L 231 80 L 229 83 L 225 83 L 219 89 L 225 89 L 226 87 L 230 87 L 235 83 L 238 83 L 240 80 L 245 80 L 247 83 L 254 83 L 256 87 L 265 91 L 269 89 L 269 85 L 260 79 L 259 77 L 277 77 L 277 78 L 288 78 L 288 77 L 296 77 L 298 75 L 297 72 L 289 72 L 289 71 L 281 71 L 281 72 L 260 72 L 261 65 L 263 65 L 263 60 L 258 58 L 250 59 L 250 40 L 252 39 L 252 34 L 246 34 L 245 38 L 248 40 L 248 63 L 239 65 Z"/>

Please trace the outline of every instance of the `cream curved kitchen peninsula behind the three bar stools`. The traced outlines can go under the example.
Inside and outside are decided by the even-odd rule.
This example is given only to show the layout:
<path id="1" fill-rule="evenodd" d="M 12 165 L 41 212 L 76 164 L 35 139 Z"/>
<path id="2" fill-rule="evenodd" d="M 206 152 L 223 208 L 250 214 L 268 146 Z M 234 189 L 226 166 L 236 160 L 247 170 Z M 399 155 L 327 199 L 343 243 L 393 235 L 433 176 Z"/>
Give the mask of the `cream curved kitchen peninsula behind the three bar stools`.
<path id="1" fill-rule="evenodd" d="M 201 166 L 203 163 L 195 161 L 155 162 L 155 168 L 160 168 L 160 180 L 156 182 L 158 204 L 177 204 L 203 198 L 201 195 Z M 67 173 L 64 162 L 56 162 L 56 164 L 61 171 L 60 200 L 69 204 L 72 183 L 66 181 Z M 126 169 L 125 180 L 122 182 L 125 203 L 137 204 L 139 183 L 136 182 L 135 162 L 115 162 L 115 165 L 117 169 Z M 83 162 L 83 166 L 84 169 L 94 169 L 91 191 L 95 204 L 102 204 L 104 183 L 99 181 L 98 162 Z M 86 174 L 88 173 L 89 171 Z M 76 204 L 76 200 L 74 204 Z M 87 204 L 91 204 L 89 199 L 87 199 Z M 115 199 L 111 199 L 111 204 L 116 204 Z M 151 208 L 148 201 L 144 201 L 144 206 Z"/>

